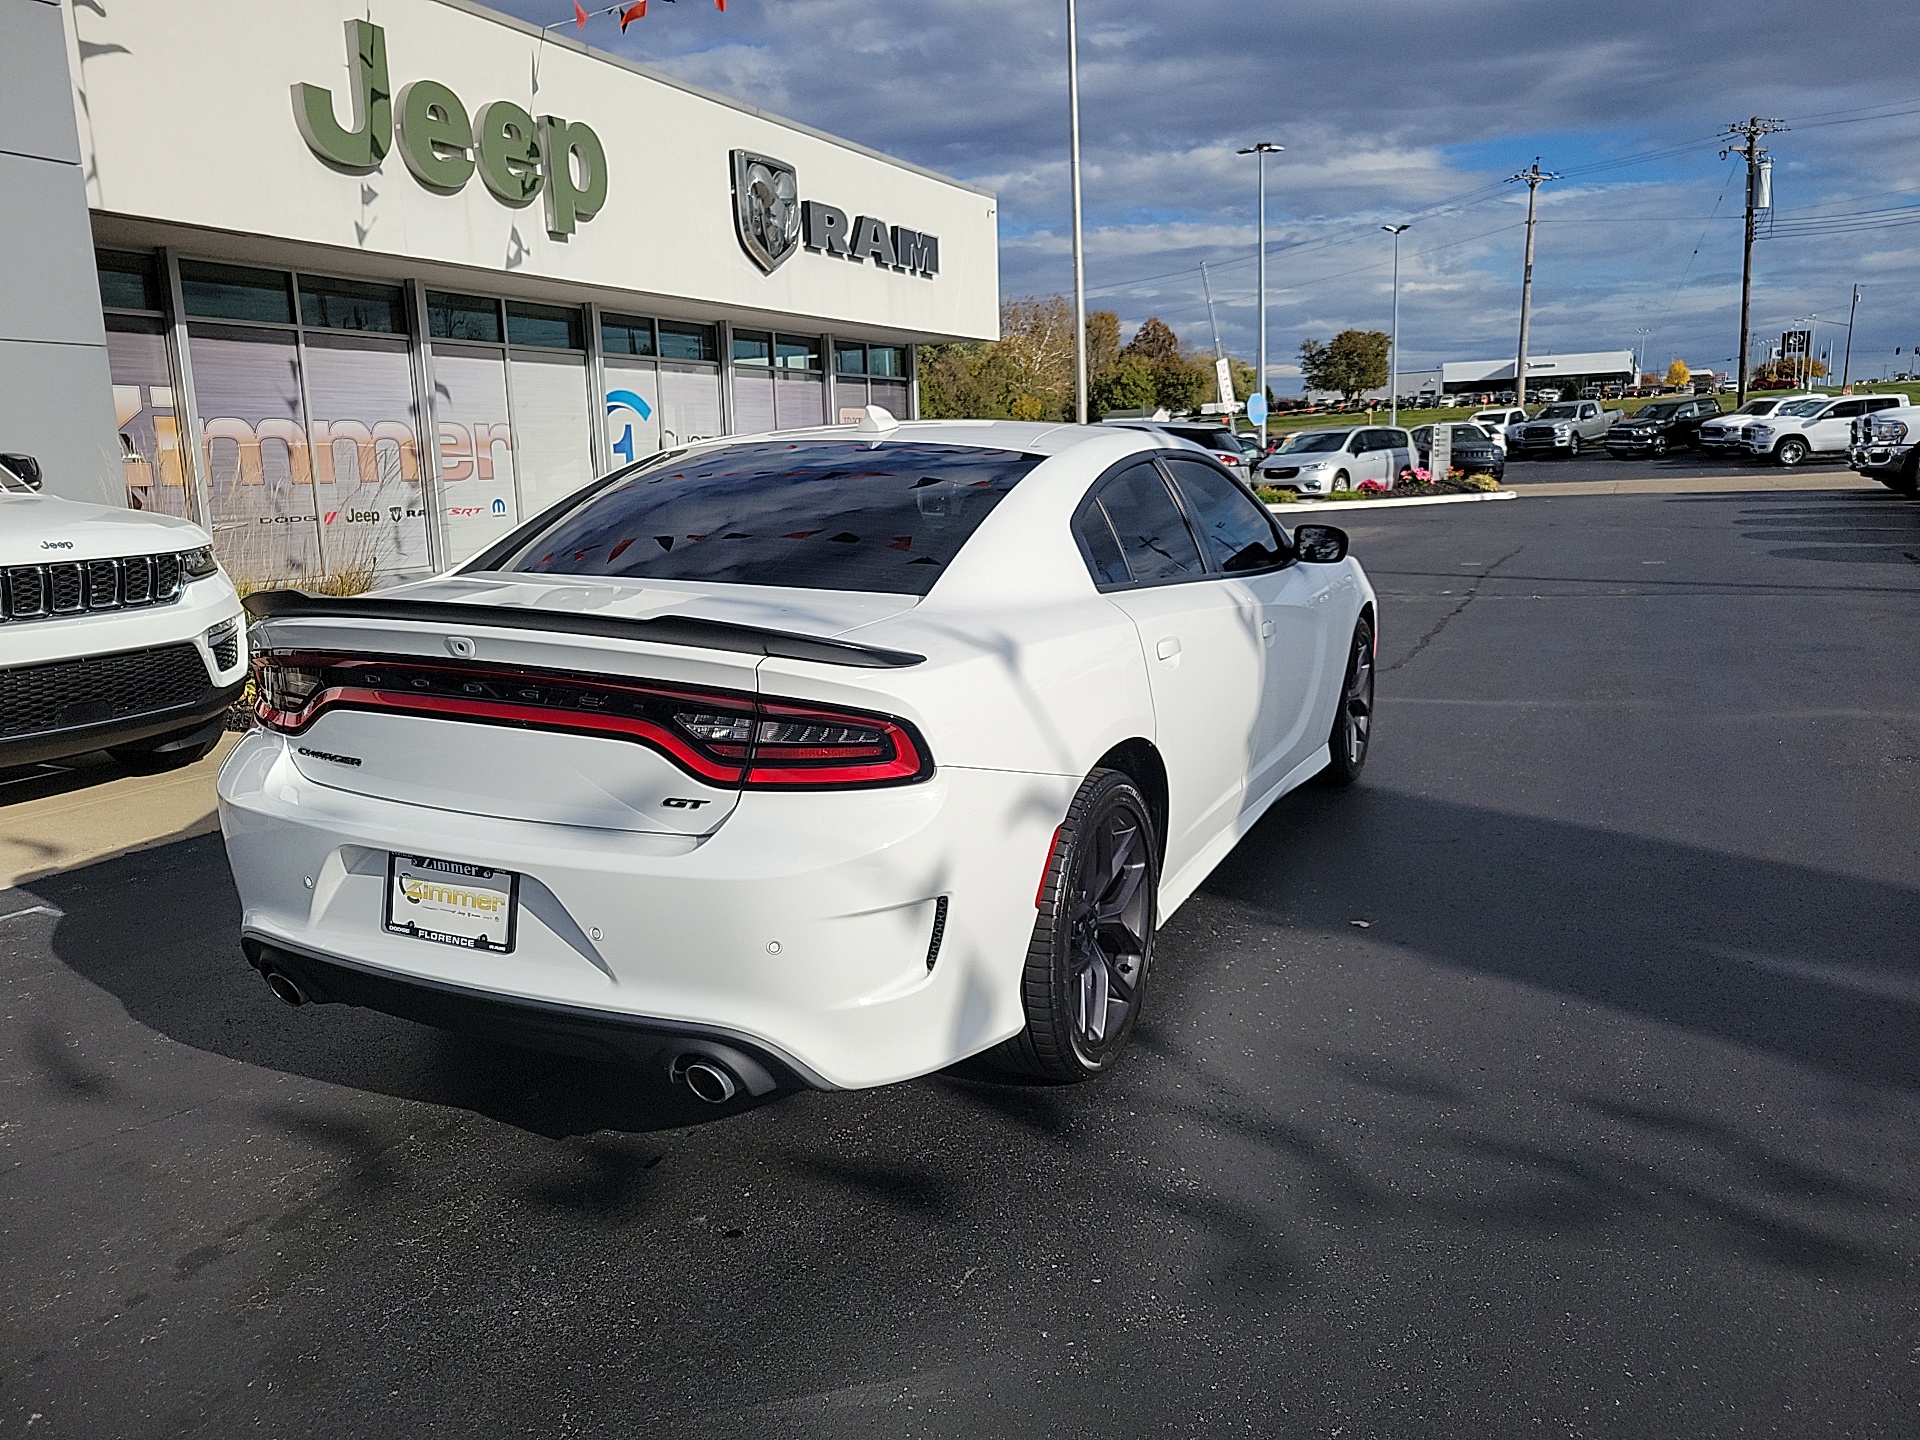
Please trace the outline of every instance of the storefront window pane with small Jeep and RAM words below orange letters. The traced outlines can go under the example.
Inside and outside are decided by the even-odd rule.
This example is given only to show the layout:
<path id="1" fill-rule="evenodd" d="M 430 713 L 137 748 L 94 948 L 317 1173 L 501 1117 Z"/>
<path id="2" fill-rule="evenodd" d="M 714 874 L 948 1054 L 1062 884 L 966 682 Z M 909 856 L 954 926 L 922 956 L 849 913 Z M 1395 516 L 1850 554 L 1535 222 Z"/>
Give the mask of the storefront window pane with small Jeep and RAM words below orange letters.
<path id="1" fill-rule="evenodd" d="M 311 334 L 305 359 L 313 407 L 307 436 L 326 568 L 353 574 L 428 568 L 407 342 Z"/>

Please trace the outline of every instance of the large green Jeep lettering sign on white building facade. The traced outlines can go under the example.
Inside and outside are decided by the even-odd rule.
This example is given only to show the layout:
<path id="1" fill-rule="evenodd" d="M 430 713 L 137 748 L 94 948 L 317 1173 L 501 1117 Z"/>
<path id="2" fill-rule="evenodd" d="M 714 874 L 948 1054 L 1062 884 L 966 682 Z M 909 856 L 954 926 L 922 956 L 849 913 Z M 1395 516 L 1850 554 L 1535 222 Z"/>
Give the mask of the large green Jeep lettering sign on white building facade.
<path id="1" fill-rule="evenodd" d="M 493 100 L 468 117 L 440 81 L 413 81 L 396 96 L 386 77 L 386 31 L 365 19 L 348 25 L 348 104 L 351 129 L 334 115 L 334 96 L 317 84 L 294 86 L 294 123 L 307 148 L 336 169 L 380 169 L 399 121 L 399 157 L 413 179 L 444 196 L 472 173 L 507 205 L 547 198 L 547 232 L 568 236 L 607 204 L 607 152 L 586 125 L 559 115 L 536 121 L 511 100 Z"/>

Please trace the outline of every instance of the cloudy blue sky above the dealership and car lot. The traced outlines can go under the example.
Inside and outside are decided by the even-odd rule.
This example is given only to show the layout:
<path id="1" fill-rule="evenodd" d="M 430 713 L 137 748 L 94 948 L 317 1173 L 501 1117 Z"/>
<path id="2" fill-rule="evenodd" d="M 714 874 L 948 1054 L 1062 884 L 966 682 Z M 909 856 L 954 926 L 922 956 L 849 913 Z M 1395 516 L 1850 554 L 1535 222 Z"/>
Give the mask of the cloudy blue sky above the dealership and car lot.
<path id="1" fill-rule="evenodd" d="M 547 23 L 570 0 L 497 0 Z M 1920 4 L 1684 0 L 1079 0 L 1089 303 L 1256 346 L 1254 140 L 1267 159 L 1269 351 L 1386 328 L 1402 240 L 1405 369 L 1511 355 L 1524 186 L 1540 192 L 1534 353 L 1642 348 L 1732 369 L 1738 161 L 1718 132 L 1778 117 L 1755 334 L 1820 317 L 1836 369 L 1920 344 Z M 1630 13 L 1615 23 L 1613 15 Z M 586 38 L 1000 194 L 1002 294 L 1071 288 L 1064 0 L 655 4 Z M 568 27 L 570 33 L 572 27 Z M 1908 209 L 1910 207 L 1910 209 Z M 1763 227 L 1763 234 L 1768 227 Z M 1757 342 L 1764 344 L 1764 342 Z M 1763 357 L 1757 348 L 1755 357 Z M 1275 390 L 1294 388 L 1275 376 Z"/>

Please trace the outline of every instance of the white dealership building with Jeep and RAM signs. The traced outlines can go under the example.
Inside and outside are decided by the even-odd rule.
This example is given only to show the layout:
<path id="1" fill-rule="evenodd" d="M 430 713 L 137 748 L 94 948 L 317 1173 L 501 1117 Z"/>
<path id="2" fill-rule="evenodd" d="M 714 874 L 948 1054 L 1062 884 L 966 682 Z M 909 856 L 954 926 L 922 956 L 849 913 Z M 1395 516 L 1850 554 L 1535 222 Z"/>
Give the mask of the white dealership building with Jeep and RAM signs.
<path id="1" fill-rule="evenodd" d="M 0 54 L 0 451 L 244 580 L 442 568 L 662 447 L 912 417 L 918 344 L 998 334 L 989 192 L 570 19 L 6 0 Z"/>

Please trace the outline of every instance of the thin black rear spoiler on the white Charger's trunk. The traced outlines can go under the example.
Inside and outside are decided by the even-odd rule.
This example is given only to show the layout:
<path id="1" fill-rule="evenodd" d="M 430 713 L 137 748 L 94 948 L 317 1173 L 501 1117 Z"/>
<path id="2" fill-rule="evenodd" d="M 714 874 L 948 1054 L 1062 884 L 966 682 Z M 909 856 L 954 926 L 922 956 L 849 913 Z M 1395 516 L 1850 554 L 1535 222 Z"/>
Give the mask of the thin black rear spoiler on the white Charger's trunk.
<path id="1" fill-rule="evenodd" d="M 785 660 L 852 664 L 864 670 L 899 670 L 924 664 L 925 655 L 854 645 L 847 639 L 801 636 L 791 630 L 764 630 L 728 620 L 701 620 L 689 614 L 580 614 L 536 611 L 518 605 L 463 605 L 459 601 L 382 599 L 378 595 L 307 595 L 301 589 L 257 589 L 244 601 L 253 620 L 409 620 L 451 630 L 545 630 L 557 636 L 601 636 L 605 639 L 645 639 L 655 645 L 697 645 L 739 655 L 774 655 Z"/>

